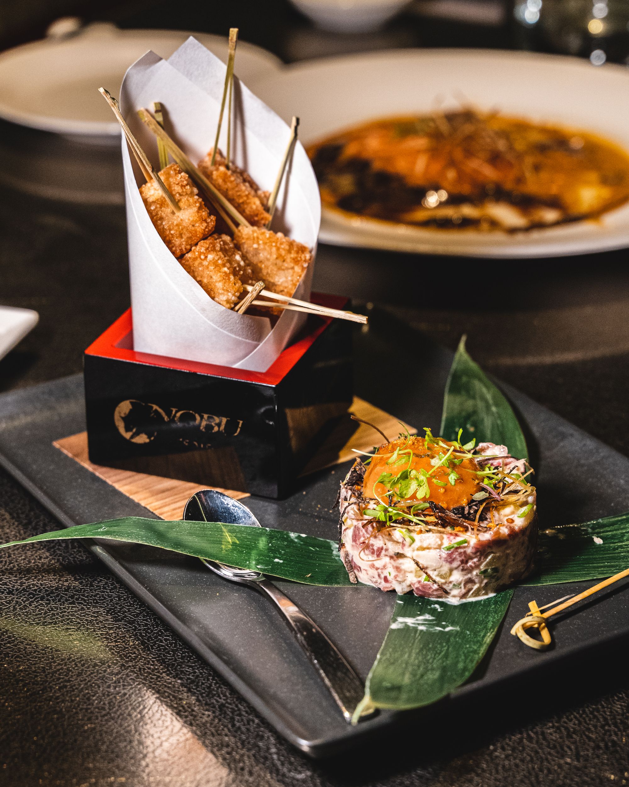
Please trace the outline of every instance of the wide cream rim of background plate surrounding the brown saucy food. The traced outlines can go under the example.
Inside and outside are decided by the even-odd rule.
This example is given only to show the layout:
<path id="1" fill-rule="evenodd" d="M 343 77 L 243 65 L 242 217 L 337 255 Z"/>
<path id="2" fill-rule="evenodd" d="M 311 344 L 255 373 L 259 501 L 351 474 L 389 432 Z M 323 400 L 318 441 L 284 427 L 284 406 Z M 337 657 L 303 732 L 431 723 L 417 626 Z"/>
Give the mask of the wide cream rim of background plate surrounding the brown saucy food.
<path id="1" fill-rule="evenodd" d="M 377 117 L 429 112 L 436 102 L 593 131 L 629 150 L 629 69 L 574 57 L 491 50 L 395 50 L 291 65 L 249 83 L 307 145 Z M 552 257 L 629 246 L 629 205 L 599 222 L 517 235 L 402 227 L 323 212 L 319 239 L 337 246 L 466 257 Z"/>

